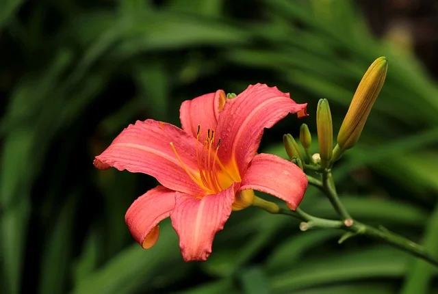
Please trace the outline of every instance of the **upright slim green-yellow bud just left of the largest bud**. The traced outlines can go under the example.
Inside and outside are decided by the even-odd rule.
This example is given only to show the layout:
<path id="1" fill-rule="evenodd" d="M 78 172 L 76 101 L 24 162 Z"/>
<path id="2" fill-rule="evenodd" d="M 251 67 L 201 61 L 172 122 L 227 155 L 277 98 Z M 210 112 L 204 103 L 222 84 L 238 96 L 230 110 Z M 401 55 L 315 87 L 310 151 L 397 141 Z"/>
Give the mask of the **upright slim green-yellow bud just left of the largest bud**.
<path id="1" fill-rule="evenodd" d="M 318 129 L 321 166 L 322 168 L 327 168 L 333 152 L 333 126 L 329 101 L 327 101 L 327 99 L 320 99 L 318 102 L 318 108 L 316 109 L 316 128 Z"/>

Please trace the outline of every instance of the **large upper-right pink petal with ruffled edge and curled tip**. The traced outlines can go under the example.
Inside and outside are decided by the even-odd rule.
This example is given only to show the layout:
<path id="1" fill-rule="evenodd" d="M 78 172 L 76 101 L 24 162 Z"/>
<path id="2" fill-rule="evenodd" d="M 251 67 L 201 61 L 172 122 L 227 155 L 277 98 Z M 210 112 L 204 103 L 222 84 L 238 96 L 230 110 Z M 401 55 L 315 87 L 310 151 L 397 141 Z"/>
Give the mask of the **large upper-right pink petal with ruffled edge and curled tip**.
<path id="1" fill-rule="evenodd" d="M 307 103 L 297 104 L 288 93 L 276 87 L 257 83 L 237 97 L 227 101 L 218 120 L 217 137 L 222 139 L 218 156 L 222 163 L 235 160 L 240 174 L 259 148 L 263 128 L 270 128 L 287 116 L 306 109 Z"/>

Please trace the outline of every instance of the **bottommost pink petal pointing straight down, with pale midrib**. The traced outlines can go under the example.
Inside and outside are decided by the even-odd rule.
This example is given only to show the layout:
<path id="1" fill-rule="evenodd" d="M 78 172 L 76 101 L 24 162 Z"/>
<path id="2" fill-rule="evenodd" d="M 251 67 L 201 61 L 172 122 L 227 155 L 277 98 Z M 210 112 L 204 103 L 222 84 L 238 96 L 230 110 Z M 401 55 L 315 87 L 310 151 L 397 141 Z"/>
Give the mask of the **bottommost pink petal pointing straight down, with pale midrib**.
<path id="1" fill-rule="evenodd" d="M 179 236 L 179 247 L 185 261 L 207 260 L 214 235 L 222 230 L 231 213 L 234 185 L 202 199 L 177 193 L 170 219 Z"/>

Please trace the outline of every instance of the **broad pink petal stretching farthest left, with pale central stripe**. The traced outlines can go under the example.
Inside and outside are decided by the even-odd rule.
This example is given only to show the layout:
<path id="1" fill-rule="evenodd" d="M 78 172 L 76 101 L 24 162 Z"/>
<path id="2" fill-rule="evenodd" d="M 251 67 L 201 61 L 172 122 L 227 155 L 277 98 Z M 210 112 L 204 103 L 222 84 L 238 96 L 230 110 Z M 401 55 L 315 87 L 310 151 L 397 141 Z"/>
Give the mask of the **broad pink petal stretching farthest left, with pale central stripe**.
<path id="1" fill-rule="evenodd" d="M 157 178 L 168 189 L 202 195 L 203 190 L 181 167 L 170 142 L 187 169 L 197 174 L 196 139 L 177 126 L 156 120 L 130 124 L 101 155 L 96 156 L 94 165 L 101 169 L 112 166 L 118 170 L 142 172 Z"/>

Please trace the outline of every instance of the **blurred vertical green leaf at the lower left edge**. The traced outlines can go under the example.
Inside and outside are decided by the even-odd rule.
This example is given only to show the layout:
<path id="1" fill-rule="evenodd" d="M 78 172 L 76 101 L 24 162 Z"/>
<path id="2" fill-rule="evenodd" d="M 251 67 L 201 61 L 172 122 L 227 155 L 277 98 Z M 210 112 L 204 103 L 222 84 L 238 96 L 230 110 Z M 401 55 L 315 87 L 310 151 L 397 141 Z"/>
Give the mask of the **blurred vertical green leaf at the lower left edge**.
<path id="1" fill-rule="evenodd" d="M 29 177 L 32 171 L 29 170 L 29 163 L 33 139 L 34 135 L 23 129 L 5 137 L 3 146 L 0 176 L 0 207 L 3 210 L 1 254 L 6 283 L 12 294 L 18 293 L 21 285 L 30 213 Z"/>

